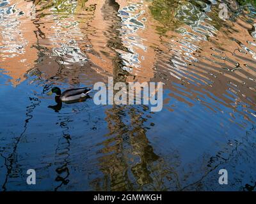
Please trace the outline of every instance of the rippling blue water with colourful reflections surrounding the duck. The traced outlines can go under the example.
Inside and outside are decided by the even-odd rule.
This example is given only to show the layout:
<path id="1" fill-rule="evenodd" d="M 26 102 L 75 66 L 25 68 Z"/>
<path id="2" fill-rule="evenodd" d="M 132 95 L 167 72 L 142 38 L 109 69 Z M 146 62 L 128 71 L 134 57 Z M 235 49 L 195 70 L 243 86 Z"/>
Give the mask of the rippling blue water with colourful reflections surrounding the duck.
<path id="1" fill-rule="evenodd" d="M 1 191 L 255 190 L 256 6 L 224 2 L 0 0 Z M 46 94 L 108 77 L 163 110 Z"/>

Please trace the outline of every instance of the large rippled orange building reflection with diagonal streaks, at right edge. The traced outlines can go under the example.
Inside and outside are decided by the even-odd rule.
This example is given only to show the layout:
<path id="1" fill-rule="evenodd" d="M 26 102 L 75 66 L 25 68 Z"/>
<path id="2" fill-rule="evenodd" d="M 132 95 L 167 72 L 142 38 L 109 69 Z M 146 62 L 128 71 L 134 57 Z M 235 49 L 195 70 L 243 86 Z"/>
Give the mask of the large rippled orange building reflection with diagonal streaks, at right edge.
<path id="1" fill-rule="evenodd" d="M 230 109 L 230 114 L 236 112 L 252 122 L 256 103 L 252 43 L 255 28 L 243 17 L 235 22 L 220 22 L 220 18 L 212 15 L 217 8 L 214 5 L 208 13 L 189 2 L 183 5 L 178 1 L 163 1 L 163 6 L 159 6 L 157 1 L 150 5 L 153 17 L 159 22 L 156 30 L 161 31 L 159 44 L 154 47 L 157 53 L 154 80 L 164 82 L 170 99 L 189 106 L 200 101 L 212 112 L 222 111 L 224 106 Z M 206 7 L 202 4 L 202 8 Z M 175 18 L 179 24 L 161 17 L 167 8 L 170 8 L 169 18 Z M 226 26 L 220 26 L 223 24 Z M 227 34 L 230 27 L 234 32 Z M 243 32 L 245 27 L 248 32 Z"/>

